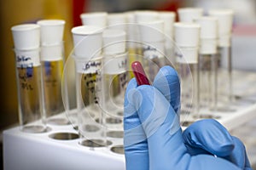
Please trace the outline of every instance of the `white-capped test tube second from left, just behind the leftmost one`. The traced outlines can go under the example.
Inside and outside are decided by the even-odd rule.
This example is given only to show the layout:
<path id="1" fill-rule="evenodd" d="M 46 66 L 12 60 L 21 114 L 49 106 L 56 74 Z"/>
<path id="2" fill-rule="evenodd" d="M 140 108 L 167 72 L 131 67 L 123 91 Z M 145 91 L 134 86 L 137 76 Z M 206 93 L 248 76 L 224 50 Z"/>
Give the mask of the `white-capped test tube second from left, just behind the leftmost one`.
<path id="1" fill-rule="evenodd" d="M 63 71 L 64 20 L 38 20 L 41 32 L 41 64 L 44 94 L 44 114 L 47 123 L 68 124 L 61 96 Z"/>

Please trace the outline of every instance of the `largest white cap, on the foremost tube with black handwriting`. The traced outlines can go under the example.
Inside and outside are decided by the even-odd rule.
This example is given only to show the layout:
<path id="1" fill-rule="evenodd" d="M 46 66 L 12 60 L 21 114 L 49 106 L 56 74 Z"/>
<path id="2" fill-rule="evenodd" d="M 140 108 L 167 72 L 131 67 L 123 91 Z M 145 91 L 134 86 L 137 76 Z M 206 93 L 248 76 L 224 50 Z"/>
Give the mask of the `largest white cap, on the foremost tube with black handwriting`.
<path id="1" fill-rule="evenodd" d="M 102 52 L 102 27 L 77 26 L 72 29 L 74 57 L 91 59 Z"/>

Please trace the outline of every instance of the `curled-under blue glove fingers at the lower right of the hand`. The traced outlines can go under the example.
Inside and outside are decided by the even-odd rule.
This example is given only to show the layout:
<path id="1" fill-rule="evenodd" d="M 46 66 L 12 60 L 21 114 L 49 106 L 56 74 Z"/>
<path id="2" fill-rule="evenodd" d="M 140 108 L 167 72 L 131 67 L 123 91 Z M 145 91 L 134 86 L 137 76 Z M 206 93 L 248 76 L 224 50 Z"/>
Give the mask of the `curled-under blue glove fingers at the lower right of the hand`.
<path id="1" fill-rule="evenodd" d="M 183 132 L 183 139 L 194 155 L 207 151 L 233 162 L 241 169 L 251 169 L 244 144 L 216 120 L 205 119 L 191 124 Z"/>

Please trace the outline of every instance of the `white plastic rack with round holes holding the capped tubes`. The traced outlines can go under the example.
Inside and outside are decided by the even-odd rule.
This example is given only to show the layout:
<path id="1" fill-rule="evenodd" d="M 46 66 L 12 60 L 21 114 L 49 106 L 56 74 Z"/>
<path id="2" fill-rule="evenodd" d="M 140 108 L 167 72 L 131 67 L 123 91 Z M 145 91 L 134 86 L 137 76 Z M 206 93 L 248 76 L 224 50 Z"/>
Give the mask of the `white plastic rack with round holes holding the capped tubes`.
<path id="1" fill-rule="evenodd" d="M 230 131 L 256 117 L 256 73 L 234 71 L 233 76 L 236 111 L 211 113 Z M 187 116 L 186 121 L 195 120 Z M 108 138 L 112 143 L 108 147 L 87 147 L 79 144 L 78 137 L 72 125 L 52 125 L 46 133 L 23 133 L 19 127 L 5 130 L 4 169 L 125 169 L 125 156 L 113 147 L 123 139 Z"/>

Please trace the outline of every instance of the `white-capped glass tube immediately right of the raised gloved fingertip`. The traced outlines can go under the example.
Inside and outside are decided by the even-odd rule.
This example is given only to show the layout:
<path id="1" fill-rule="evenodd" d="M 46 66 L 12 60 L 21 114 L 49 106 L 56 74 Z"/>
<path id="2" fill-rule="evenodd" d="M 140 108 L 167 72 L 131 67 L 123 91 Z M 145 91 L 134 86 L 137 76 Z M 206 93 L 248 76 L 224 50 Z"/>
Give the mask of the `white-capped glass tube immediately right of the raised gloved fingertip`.
<path id="1" fill-rule="evenodd" d="M 182 109 L 199 115 L 199 67 L 198 46 L 200 26 L 190 23 L 175 23 L 177 72 L 181 77 Z M 191 80 L 191 75 L 193 80 Z M 191 84 L 192 82 L 192 84 Z M 192 99 L 192 101 L 190 100 Z M 181 112 L 183 113 L 183 111 Z"/>

